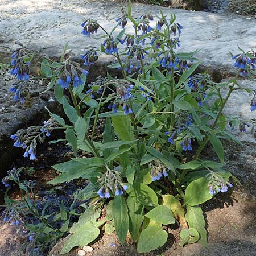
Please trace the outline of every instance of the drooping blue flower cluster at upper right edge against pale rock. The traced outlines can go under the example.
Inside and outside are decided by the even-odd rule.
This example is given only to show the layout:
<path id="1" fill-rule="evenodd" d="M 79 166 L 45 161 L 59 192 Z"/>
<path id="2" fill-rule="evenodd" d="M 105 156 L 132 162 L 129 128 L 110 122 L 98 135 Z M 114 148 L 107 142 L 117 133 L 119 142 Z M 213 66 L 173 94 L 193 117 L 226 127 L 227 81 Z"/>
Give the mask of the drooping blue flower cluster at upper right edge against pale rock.
<path id="1" fill-rule="evenodd" d="M 249 57 L 245 53 L 240 53 L 232 57 L 233 60 L 236 60 L 234 67 L 241 69 L 241 76 L 247 76 L 249 75 L 250 69 L 256 69 L 256 55 L 253 51 L 251 53 L 255 57 Z"/>

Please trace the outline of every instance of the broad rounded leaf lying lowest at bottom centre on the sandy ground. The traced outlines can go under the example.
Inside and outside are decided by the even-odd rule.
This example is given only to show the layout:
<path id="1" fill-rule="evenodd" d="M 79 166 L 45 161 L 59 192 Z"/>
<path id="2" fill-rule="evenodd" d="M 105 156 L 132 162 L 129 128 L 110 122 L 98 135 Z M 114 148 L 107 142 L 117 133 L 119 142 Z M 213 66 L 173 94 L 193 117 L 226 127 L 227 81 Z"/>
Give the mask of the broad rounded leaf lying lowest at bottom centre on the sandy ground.
<path id="1" fill-rule="evenodd" d="M 161 247 L 167 241 L 167 232 L 159 226 L 147 226 L 139 236 L 138 253 L 148 253 Z"/>

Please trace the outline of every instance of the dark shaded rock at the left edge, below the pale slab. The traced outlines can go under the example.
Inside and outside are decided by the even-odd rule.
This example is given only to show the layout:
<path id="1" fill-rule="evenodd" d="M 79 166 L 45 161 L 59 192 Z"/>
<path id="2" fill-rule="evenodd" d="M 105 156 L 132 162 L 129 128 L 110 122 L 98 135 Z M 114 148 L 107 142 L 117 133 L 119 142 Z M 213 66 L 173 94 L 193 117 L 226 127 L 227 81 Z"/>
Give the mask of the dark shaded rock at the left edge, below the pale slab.
<path id="1" fill-rule="evenodd" d="M 43 120 L 49 119 L 45 106 L 57 113 L 62 111 L 60 105 L 55 100 L 51 100 L 52 92 L 38 95 L 45 89 L 40 84 L 31 83 L 28 86 L 30 93 L 26 104 L 22 105 L 19 101 L 14 101 L 14 95 L 9 92 L 9 87 L 15 81 L 7 75 L 0 74 L 0 177 L 5 176 L 10 164 L 24 153 L 20 148 L 13 147 L 14 142 L 10 139 L 10 135 L 30 125 L 42 125 Z"/>

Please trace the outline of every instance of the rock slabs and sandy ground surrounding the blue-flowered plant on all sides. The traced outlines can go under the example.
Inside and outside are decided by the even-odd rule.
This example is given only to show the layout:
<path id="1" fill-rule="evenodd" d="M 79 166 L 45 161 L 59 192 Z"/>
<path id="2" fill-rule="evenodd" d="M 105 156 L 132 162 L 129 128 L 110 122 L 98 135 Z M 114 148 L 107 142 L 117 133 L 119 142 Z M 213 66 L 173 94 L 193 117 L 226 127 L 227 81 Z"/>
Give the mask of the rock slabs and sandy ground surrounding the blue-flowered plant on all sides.
<path id="1" fill-rule="evenodd" d="M 153 14 L 159 14 L 160 8 L 164 14 L 169 14 L 170 11 L 175 13 L 177 21 L 184 27 L 181 35 L 181 50 L 200 49 L 197 54 L 202 60 L 200 69 L 207 69 L 212 73 L 214 80 L 221 81 L 235 72 L 229 51 L 237 53 L 237 44 L 245 50 L 256 48 L 256 20 L 236 14 L 213 13 L 224 11 L 228 1 L 208 1 L 210 7 L 207 11 L 210 13 L 138 3 L 134 4 L 133 13 L 136 16 L 152 10 Z M 88 39 L 81 35 L 82 20 L 88 17 L 97 18 L 106 29 L 110 30 L 115 25 L 114 19 L 119 16 L 122 7 L 121 3 L 114 0 L 1 0 L 0 2 L 0 64 L 9 63 L 11 49 L 15 47 L 16 40 L 51 57 L 59 57 L 65 42 L 69 41 L 69 54 L 79 60 L 86 49 L 100 46 L 100 40 Z M 127 32 L 131 29 L 127 26 Z M 113 61 L 109 56 L 101 56 L 100 59 L 97 65 L 90 69 L 89 81 L 94 80 L 99 74 L 104 75 L 108 70 L 108 64 Z M 38 64 L 35 65 L 38 67 Z M 9 86 L 14 80 L 7 73 L 7 69 L 6 65 L 0 65 L 0 171 L 2 173 L 6 172 L 14 158 L 21 157 L 20 152 L 17 154 L 18 151 L 14 151 L 11 147 L 10 134 L 19 128 L 39 124 L 46 119 L 47 112 L 44 106 L 61 111 L 52 100 L 51 92 L 39 96 L 39 92 L 42 92 L 45 86 L 40 81 L 28 85 L 26 105 L 14 102 L 13 94 L 9 92 Z M 34 71 L 36 72 L 36 68 Z M 255 81 L 244 80 L 240 83 L 242 86 L 256 89 Z M 249 94 L 235 93 L 230 100 L 230 104 L 225 109 L 227 114 L 243 119 L 256 118 L 256 113 L 249 112 Z M 175 232 L 170 234 L 170 243 L 166 247 L 150 255 L 255 256 L 256 147 L 253 138 L 255 131 L 249 130 L 246 134 L 233 132 L 245 142 L 243 146 L 226 144 L 225 163 L 226 167 L 240 179 L 242 185 L 234 189 L 231 197 L 230 194 L 226 196 L 223 194 L 205 205 L 210 249 L 206 251 L 198 244 L 181 249 L 177 246 L 178 241 L 174 239 L 179 233 L 179 230 L 176 230 L 176 234 Z M 212 159 L 215 156 L 210 152 L 212 151 L 205 152 L 205 157 Z M 9 224 L 0 223 L 0 231 L 0 255 L 13 255 L 14 249 L 19 245 L 18 241 L 21 243 L 23 241 L 22 229 L 18 230 Z M 109 246 L 109 243 L 114 243 L 115 246 Z M 115 236 L 104 236 L 91 246 L 94 248 L 93 253 L 86 255 L 137 255 L 134 246 L 127 244 L 121 247 Z M 57 251 L 60 247 L 61 245 L 57 245 L 53 251 L 55 256 L 58 255 Z M 74 251 L 73 255 L 76 253 L 77 251 Z"/>

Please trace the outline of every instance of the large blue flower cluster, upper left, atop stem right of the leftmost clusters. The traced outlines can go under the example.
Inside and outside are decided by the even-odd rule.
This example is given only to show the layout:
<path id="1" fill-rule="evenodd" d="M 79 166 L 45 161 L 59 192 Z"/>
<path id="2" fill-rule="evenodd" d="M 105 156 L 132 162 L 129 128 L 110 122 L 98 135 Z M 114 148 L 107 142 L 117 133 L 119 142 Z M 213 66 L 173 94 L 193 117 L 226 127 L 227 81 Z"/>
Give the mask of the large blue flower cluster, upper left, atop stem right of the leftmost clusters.
<path id="1" fill-rule="evenodd" d="M 79 63 L 69 59 L 65 61 L 64 65 L 61 65 L 57 69 L 57 73 L 59 74 L 57 84 L 59 84 L 63 89 L 69 88 L 69 84 L 71 84 L 72 81 L 73 87 L 83 85 L 84 81 L 81 79 L 81 74 L 83 73 L 85 76 L 88 75 L 88 71 L 82 69 Z"/>

